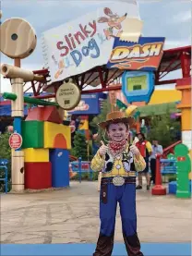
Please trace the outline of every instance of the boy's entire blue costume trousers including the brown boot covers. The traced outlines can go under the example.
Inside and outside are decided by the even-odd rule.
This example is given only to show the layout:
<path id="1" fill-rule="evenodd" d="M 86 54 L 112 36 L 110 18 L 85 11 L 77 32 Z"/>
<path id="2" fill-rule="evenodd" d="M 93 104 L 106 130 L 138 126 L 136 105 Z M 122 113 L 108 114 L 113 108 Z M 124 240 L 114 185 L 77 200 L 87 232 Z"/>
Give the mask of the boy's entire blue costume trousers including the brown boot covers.
<path id="1" fill-rule="evenodd" d="M 116 206 L 119 202 L 123 237 L 128 256 L 143 256 L 137 234 L 136 184 L 115 187 L 113 183 L 101 185 L 100 236 L 93 256 L 111 256 L 114 249 Z"/>

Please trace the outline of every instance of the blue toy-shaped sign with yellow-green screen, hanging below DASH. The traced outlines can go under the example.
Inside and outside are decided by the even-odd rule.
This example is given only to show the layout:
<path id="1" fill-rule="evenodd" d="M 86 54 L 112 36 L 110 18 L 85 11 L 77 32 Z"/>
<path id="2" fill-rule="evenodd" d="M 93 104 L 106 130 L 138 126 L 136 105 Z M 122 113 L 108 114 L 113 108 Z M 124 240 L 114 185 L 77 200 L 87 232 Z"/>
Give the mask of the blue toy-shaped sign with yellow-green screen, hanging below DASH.
<path id="1" fill-rule="evenodd" d="M 122 91 L 128 104 L 150 102 L 154 91 L 153 72 L 125 71 L 122 76 Z"/>

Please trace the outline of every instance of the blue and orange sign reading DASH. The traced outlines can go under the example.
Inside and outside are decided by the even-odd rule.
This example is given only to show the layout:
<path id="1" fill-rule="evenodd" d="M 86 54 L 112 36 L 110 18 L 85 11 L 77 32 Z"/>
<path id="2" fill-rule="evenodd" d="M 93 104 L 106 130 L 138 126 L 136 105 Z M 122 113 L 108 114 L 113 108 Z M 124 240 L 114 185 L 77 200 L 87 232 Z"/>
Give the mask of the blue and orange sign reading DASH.
<path id="1" fill-rule="evenodd" d="M 107 67 L 132 70 L 156 70 L 162 59 L 164 37 L 140 37 L 138 43 L 114 40 Z"/>

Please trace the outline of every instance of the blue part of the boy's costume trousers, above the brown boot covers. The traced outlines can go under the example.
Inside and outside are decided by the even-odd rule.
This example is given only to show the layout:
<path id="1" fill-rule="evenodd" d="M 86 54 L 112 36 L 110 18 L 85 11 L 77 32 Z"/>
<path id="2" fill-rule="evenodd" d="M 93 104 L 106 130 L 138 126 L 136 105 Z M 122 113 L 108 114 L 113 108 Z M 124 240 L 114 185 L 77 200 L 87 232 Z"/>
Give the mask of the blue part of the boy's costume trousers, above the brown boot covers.
<path id="1" fill-rule="evenodd" d="M 106 191 L 103 187 L 106 186 Z M 122 231 L 126 236 L 132 236 L 137 233 L 137 213 L 136 213 L 136 185 L 125 184 L 115 187 L 109 183 L 101 187 L 100 194 L 100 219 L 101 233 L 105 236 L 114 234 L 116 206 L 119 202 L 120 214 L 122 220 Z M 106 193 L 106 201 L 102 193 Z"/>

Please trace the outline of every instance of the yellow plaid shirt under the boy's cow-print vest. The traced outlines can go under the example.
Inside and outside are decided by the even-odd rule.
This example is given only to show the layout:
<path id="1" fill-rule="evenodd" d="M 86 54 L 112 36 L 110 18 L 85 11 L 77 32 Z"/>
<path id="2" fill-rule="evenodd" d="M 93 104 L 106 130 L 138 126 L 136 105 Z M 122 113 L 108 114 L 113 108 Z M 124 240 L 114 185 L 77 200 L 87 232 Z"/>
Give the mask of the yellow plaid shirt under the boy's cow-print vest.
<path id="1" fill-rule="evenodd" d="M 127 148 L 128 148 L 128 145 L 127 145 Z M 135 169 L 137 172 L 142 172 L 145 169 L 146 162 L 145 162 L 144 158 L 141 156 L 141 154 L 139 155 L 139 159 L 137 159 L 134 156 L 133 161 L 134 161 Z M 90 163 L 90 168 L 95 172 L 100 172 L 100 171 L 102 171 L 104 165 L 105 165 L 105 156 L 103 155 L 101 157 L 100 153 L 98 151 Z M 120 165 L 121 168 L 117 170 L 115 168 L 116 165 Z M 130 170 L 127 172 L 122 163 L 122 157 L 120 157 L 120 159 L 117 159 L 114 157 L 112 171 L 102 172 L 102 177 L 114 177 L 114 176 L 136 177 L 136 172 L 133 170 Z"/>

